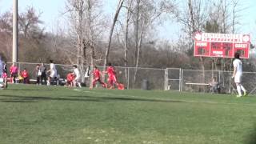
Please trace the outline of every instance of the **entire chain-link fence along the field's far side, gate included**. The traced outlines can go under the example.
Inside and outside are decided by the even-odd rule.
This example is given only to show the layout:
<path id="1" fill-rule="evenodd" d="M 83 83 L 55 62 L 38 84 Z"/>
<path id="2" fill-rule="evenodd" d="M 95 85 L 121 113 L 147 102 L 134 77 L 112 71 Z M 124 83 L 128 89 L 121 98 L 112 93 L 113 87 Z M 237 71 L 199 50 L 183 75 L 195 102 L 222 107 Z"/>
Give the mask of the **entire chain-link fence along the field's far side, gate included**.
<path id="1" fill-rule="evenodd" d="M 7 64 L 9 68 L 11 63 Z M 26 68 L 29 72 L 30 79 L 36 79 L 35 68 L 38 63 L 18 62 L 18 70 L 22 71 Z M 49 70 L 49 64 L 46 64 Z M 88 67 L 88 66 L 86 66 Z M 98 66 L 103 70 L 102 66 Z M 59 78 L 66 78 L 66 74 L 72 71 L 72 65 L 56 64 Z M 134 68 L 116 66 L 118 82 L 123 83 L 127 89 L 141 89 L 143 82 L 151 90 L 177 90 L 190 92 L 209 92 L 210 87 L 207 85 L 212 78 L 216 78 L 220 83 L 222 93 L 232 93 L 236 86 L 234 79 L 231 78 L 230 71 L 221 70 L 182 70 L 179 68 L 153 69 L 153 68 Z M 92 72 L 92 70 L 90 70 Z M 135 76 L 136 74 L 136 76 Z M 10 75 L 10 74 L 9 74 Z M 242 84 L 250 92 L 256 86 L 256 72 L 244 72 L 242 76 Z M 85 78 L 87 86 L 90 78 Z M 205 85 L 204 85 L 205 84 Z M 256 90 L 254 91 L 256 93 Z"/>

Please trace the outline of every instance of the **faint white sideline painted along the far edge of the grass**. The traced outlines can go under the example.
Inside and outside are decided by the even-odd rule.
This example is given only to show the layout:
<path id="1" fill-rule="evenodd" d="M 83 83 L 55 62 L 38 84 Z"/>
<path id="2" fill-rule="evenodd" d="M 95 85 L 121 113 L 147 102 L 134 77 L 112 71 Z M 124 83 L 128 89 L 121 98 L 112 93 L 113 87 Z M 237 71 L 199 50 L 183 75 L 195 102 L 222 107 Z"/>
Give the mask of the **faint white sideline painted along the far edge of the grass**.
<path id="1" fill-rule="evenodd" d="M 90 91 L 90 90 L 80 90 L 80 89 L 74 89 L 74 91 L 82 92 L 82 93 L 91 93 L 91 94 L 104 94 L 105 96 L 116 96 L 116 94 L 106 94 L 102 92 L 96 92 L 96 91 Z M 134 95 L 124 95 L 124 94 L 118 94 L 118 96 L 121 97 L 138 97 Z M 160 101 L 178 101 L 178 102 L 191 102 L 191 103 L 209 103 L 209 104 L 222 104 L 222 105 L 244 105 L 244 106 L 256 106 L 256 104 L 250 104 L 250 103 L 230 103 L 230 102 L 207 102 L 207 101 L 193 101 L 193 100 L 182 100 L 182 99 L 152 99 L 152 100 L 160 100 Z"/>

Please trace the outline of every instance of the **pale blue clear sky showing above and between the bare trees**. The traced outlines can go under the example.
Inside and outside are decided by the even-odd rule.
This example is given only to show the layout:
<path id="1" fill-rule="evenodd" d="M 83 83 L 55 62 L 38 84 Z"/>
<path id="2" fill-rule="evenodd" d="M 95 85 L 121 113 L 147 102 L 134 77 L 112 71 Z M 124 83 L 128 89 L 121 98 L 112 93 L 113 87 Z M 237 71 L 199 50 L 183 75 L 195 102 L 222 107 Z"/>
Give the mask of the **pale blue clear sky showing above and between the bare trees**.
<path id="1" fill-rule="evenodd" d="M 0 0 L 0 13 L 12 9 L 13 0 Z M 65 7 L 66 0 L 18 0 L 19 11 L 24 11 L 27 6 L 34 6 L 38 12 L 42 12 L 41 19 L 45 22 L 46 30 L 52 30 L 56 25 L 58 17 L 61 16 Z M 117 0 L 102 0 L 103 10 L 106 14 L 114 14 L 114 9 L 117 5 Z M 241 26 L 239 33 L 251 34 L 253 42 L 256 39 L 256 0 L 241 0 L 242 5 L 246 10 L 241 14 Z M 164 39 L 175 39 L 179 33 L 175 22 L 166 21 L 159 28 L 159 36 Z"/>

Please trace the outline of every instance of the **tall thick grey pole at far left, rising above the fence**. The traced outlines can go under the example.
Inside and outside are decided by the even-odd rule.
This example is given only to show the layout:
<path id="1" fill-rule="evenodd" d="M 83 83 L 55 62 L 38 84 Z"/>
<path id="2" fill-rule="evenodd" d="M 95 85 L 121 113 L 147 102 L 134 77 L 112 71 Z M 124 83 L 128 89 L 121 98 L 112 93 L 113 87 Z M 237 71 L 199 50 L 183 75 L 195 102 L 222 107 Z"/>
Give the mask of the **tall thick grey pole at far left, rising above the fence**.
<path id="1" fill-rule="evenodd" d="M 13 62 L 18 60 L 18 0 L 13 2 Z"/>

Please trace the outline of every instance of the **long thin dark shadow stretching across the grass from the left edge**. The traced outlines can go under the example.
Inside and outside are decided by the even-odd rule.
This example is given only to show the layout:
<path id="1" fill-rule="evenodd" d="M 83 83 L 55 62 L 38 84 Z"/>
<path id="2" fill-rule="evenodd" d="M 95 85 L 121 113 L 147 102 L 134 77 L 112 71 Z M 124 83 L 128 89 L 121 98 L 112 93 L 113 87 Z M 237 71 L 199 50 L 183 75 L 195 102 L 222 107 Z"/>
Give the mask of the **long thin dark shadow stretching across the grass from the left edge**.
<path id="1" fill-rule="evenodd" d="M 70 102 L 182 102 L 148 98 L 121 98 L 121 97 L 92 97 L 70 96 L 69 98 L 26 97 L 20 95 L 0 95 L 0 102 L 42 102 L 42 101 L 70 101 Z"/>

